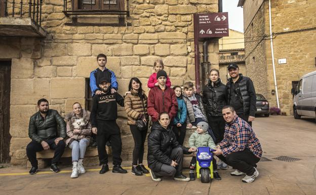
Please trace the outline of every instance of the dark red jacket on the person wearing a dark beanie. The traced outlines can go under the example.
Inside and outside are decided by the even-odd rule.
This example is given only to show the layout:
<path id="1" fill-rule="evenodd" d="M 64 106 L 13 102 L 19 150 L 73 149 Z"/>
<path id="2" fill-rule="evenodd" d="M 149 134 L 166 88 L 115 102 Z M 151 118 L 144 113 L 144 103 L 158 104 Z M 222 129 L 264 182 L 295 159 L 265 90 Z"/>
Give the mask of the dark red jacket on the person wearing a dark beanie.
<path id="1" fill-rule="evenodd" d="M 164 91 L 159 86 L 155 86 L 148 94 L 147 112 L 151 116 L 151 120 L 156 122 L 159 120 L 159 113 L 163 111 L 169 113 L 170 121 L 172 121 L 178 111 L 176 94 L 167 86 Z"/>

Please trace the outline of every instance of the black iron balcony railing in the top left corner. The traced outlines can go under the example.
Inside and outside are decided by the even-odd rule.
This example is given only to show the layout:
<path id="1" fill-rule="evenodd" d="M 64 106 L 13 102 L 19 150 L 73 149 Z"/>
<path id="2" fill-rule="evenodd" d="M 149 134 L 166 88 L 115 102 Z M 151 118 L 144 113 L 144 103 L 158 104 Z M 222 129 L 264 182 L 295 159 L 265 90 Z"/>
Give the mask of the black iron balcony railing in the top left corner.
<path id="1" fill-rule="evenodd" d="M 0 17 L 31 18 L 41 26 L 43 0 L 0 0 Z"/>

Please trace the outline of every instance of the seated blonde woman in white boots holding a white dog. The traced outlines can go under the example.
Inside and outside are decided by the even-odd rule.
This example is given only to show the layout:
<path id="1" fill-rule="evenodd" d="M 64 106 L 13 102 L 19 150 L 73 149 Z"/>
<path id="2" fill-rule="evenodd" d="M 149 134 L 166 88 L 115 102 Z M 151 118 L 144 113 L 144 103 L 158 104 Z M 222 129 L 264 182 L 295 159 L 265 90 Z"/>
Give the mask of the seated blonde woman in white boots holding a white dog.
<path id="1" fill-rule="evenodd" d="M 66 145 L 72 149 L 72 173 L 70 177 L 77 178 L 80 173 L 86 173 L 83 161 L 86 149 L 90 143 L 92 127 L 90 111 L 83 109 L 78 102 L 72 105 L 72 109 L 73 111 L 65 116 L 68 136 Z"/>

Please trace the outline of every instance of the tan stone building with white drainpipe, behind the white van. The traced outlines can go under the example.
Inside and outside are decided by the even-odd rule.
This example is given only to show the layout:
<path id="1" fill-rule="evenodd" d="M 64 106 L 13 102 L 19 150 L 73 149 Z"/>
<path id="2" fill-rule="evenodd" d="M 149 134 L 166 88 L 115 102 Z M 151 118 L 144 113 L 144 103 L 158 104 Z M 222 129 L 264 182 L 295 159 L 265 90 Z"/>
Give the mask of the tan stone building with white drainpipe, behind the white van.
<path id="1" fill-rule="evenodd" d="M 240 0 L 244 8 L 245 61 L 247 75 L 256 92 L 270 107 L 277 107 L 269 31 L 269 1 Z M 291 89 L 304 74 L 315 70 L 316 2 L 271 0 L 271 26 L 275 74 L 282 112 L 293 113 Z M 286 59 L 286 63 L 279 63 Z"/>

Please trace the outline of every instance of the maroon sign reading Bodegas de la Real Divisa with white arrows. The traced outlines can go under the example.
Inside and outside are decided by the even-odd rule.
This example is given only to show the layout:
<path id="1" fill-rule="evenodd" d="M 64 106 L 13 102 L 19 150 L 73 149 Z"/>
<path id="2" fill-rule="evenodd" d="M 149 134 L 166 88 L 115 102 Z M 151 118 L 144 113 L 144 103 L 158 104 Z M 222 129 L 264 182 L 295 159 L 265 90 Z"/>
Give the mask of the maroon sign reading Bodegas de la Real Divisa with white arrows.
<path id="1" fill-rule="evenodd" d="M 194 29 L 199 38 L 228 36 L 228 12 L 194 14 Z"/>

